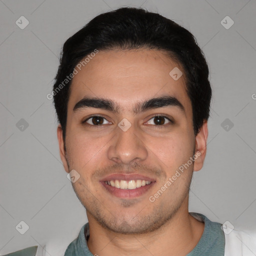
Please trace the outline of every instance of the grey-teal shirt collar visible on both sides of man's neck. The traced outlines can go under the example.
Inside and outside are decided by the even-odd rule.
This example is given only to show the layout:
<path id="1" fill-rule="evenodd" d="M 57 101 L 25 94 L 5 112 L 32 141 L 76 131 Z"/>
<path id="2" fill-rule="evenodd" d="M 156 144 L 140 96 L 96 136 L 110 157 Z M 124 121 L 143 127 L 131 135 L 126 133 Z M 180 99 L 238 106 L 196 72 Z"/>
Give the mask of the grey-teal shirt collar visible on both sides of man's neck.
<path id="1" fill-rule="evenodd" d="M 221 224 L 210 221 L 201 213 L 189 212 L 201 222 L 204 222 L 204 230 L 202 236 L 196 246 L 187 256 L 224 256 L 225 236 L 220 228 Z M 93 256 L 87 246 L 89 237 L 89 225 L 84 224 L 79 235 L 67 247 L 64 256 Z"/>

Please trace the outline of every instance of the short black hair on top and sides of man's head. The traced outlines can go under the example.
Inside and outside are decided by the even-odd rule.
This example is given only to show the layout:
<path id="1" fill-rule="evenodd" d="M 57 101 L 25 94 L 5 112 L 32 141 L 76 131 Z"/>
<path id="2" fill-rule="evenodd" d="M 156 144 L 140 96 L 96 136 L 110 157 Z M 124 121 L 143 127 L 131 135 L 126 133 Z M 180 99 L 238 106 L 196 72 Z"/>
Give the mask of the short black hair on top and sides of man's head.
<path id="1" fill-rule="evenodd" d="M 209 117 L 211 87 L 208 65 L 196 39 L 187 29 L 158 13 L 142 8 L 121 7 L 97 15 L 63 44 L 52 91 L 63 139 L 72 81 L 68 75 L 79 61 L 95 49 L 139 48 L 164 51 L 182 66 L 186 91 L 192 105 L 194 134 L 199 132 L 204 120 Z"/>

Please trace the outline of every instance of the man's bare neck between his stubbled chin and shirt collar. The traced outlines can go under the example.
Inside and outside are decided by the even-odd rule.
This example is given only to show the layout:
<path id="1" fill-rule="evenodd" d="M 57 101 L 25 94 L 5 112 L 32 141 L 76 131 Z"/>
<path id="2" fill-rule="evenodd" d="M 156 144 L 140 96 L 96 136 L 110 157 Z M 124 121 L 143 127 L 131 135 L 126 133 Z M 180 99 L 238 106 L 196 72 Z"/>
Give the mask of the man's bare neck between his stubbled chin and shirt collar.
<path id="1" fill-rule="evenodd" d="M 198 243 L 204 223 L 188 213 L 188 196 L 177 212 L 157 230 L 143 234 L 120 234 L 103 228 L 87 212 L 93 255 L 186 255 Z"/>

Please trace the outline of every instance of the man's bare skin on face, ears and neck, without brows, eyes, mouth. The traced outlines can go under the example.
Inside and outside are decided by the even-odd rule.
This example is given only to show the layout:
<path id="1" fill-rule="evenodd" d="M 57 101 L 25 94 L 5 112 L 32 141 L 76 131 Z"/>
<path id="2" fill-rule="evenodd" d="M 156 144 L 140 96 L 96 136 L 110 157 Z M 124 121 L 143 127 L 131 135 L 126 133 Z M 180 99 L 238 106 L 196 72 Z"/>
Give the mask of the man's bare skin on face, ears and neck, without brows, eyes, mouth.
<path id="1" fill-rule="evenodd" d="M 204 223 L 188 213 L 188 192 L 193 171 L 203 165 L 208 135 L 205 121 L 195 136 L 192 107 L 183 75 L 174 80 L 169 72 L 182 67 L 163 52 L 152 49 L 99 51 L 73 77 L 67 106 L 66 138 L 59 125 L 57 136 L 66 172 L 75 169 L 80 178 L 73 189 L 86 208 L 92 254 L 186 255 L 199 241 Z M 164 106 L 134 113 L 137 102 L 159 96 L 175 96 L 184 106 Z M 86 97 L 111 99 L 119 112 L 86 107 L 73 111 Z M 91 115 L 101 115 L 104 124 L 85 125 Z M 164 115 L 163 125 L 154 115 Z M 117 124 L 126 118 L 127 131 Z M 90 119 L 91 120 L 91 119 Z M 194 162 L 154 201 L 154 195 L 186 163 Z M 145 194 L 119 198 L 99 182 L 106 174 L 139 173 L 155 179 Z"/>

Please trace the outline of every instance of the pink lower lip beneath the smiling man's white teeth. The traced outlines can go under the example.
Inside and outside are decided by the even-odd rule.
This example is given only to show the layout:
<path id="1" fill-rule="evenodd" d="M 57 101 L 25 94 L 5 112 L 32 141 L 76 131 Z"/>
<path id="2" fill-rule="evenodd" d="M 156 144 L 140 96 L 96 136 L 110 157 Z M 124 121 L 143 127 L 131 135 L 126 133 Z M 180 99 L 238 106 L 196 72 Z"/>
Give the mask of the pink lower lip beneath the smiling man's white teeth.
<path id="1" fill-rule="evenodd" d="M 115 195 L 120 198 L 134 198 L 141 196 L 144 194 L 148 189 L 152 187 L 152 185 L 155 183 L 155 181 L 151 182 L 148 185 L 140 186 L 134 189 L 121 189 L 121 188 L 116 188 L 114 186 L 108 185 L 105 183 L 105 181 L 100 182 L 105 189 L 111 193 L 112 195 Z"/>

